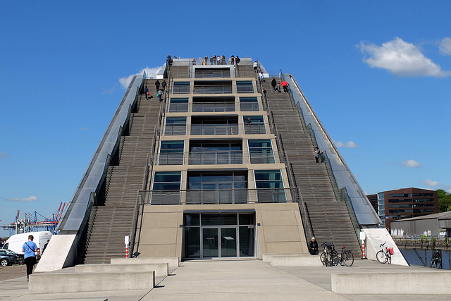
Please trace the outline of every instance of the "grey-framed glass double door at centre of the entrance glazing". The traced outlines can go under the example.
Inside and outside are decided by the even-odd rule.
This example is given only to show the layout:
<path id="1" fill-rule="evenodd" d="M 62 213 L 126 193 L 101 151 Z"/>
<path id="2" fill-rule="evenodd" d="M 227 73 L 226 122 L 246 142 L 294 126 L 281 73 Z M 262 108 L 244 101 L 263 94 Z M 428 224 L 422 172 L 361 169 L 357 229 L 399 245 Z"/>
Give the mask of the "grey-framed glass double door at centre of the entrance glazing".
<path id="1" fill-rule="evenodd" d="M 237 228 L 202 228 L 202 257 L 237 257 Z"/>

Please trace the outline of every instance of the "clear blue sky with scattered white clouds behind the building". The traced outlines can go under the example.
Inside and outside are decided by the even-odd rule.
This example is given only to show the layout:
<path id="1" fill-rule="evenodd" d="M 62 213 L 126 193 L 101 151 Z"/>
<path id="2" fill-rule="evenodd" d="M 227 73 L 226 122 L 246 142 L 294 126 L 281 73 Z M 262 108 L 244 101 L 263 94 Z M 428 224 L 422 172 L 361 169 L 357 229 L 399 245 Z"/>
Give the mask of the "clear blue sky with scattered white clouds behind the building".
<path id="1" fill-rule="evenodd" d="M 128 81 L 168 54 L 291 73 L 367 194 L 451 192 L 450 13 L 447 0 L 0 0 L 0 223 L 70 201 Z"/>

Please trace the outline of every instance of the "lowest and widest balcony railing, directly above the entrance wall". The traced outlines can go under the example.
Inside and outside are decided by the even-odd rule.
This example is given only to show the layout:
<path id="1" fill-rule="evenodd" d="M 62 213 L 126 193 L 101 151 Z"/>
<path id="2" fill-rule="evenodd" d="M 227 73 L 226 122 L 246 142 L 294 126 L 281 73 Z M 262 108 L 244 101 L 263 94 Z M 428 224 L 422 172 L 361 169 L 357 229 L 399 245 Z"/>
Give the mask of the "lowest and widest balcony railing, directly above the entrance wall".
<path id="1" fill-rule="evenodd" d="M 297 188 L 142 190 L 140 204 L 252 204 L 301 202 Z"/>

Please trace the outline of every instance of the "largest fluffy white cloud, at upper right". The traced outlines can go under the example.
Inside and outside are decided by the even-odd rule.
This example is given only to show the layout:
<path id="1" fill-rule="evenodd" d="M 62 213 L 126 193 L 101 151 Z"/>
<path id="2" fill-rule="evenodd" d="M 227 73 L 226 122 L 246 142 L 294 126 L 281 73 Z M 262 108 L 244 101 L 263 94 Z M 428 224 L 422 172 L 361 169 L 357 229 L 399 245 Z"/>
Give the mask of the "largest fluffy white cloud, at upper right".
<path id="1" fill-rule="evenodd" d="M 360 49 L 369 55 L 364 62 L 371 68 L 382 68 L 396 76 L 442 78 L 451 75 L 450 71 L 443 71 L 439 65 L 424 56 L 414 44 L 404 42 L 399 37 L 383 43 L 380 47 L 362 42 Z"/>

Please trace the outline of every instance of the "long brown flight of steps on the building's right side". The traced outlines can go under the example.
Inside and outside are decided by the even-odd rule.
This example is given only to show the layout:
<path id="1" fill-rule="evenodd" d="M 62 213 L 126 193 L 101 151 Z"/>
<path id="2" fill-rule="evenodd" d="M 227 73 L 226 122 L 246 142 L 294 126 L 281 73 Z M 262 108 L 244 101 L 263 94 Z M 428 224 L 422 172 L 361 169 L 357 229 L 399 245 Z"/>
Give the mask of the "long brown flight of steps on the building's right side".
<path id="1" fill-rule="evenodd" d="M 266 78 L 262 82 L 270 118 L 276 124 L 280 144 L 291 164 L 295 185 L 301 190 L 302 199 L 307 204 L 315 238 L 319 244 L 333 241 L 338 252 L 340 247 L 347 247 L 358 258 L 362 250 L 346 204 L 338 202 L 335 197 L 330 182 L 334 179 L 329 178 L 324 163 L 316 163 L 314 142 L 309 133 L 304 131 L 303 118 L 294 109 L 290 94 L 274 92 L 271 80 Z M 281 81 L 280 78 L 276 80 Z"/>

